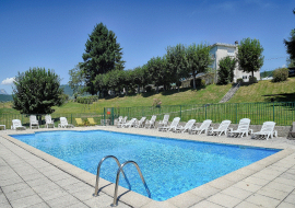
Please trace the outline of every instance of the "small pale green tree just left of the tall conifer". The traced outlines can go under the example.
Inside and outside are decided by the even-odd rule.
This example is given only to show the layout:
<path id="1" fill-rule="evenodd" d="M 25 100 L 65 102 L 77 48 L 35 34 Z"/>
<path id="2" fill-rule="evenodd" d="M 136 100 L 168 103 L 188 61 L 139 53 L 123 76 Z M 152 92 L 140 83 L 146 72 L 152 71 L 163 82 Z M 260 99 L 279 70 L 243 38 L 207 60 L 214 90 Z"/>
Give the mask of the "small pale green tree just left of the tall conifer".
<path id="1" fill-rule="evenodd" d="M 69 85 L 73 90 L 74 94 L 83 94 L 85 90 L 85 76 L 83 73 L 83 69 L 81 69 L 81 65 L 82 62 L 79 62 L 73 69 L 69 71 Z"/>

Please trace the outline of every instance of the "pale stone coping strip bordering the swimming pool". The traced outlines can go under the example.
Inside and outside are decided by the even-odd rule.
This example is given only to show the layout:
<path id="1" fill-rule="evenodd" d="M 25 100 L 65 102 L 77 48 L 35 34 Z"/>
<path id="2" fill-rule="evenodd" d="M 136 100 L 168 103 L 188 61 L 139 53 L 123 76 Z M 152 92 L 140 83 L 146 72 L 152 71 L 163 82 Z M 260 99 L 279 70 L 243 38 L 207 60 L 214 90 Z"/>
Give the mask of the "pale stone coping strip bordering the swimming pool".
<path id="1" fill-rule="evenodd" d="M 54 130 L 64 130 L 64 129 L 54 129 Z M 79 129 L 76 128 L 76 129 L 67 129 L 67 130 L 79 130 Z M 83 130 L 85 130 L 85 129 L 83 129 Z M 96 129 L 86 129 L 86 130 L 107 130 L 107 131 L 114 131 L 114 132 L 122 132 L 122 131 L 120 131 L 120 129 L 118 129 L 118 130 L 103 129 L 103 127 L 101 129 L 96 128 Z M 39 129 L 37 131 L 47 131 L 47 130 Z M 34 132 L 35 131 L 25 131 L 24 135 L 34 134 Z M 132 134 L 132 132 L 128 132 L 128 134 Z M 135 132 L 133 132 L 133 134 L 135 134 Z M 12 132 L 10 135 L 20 135 L 20 134 Z M 144 135 L 144 134 L 142 134 L 142 135 Z M 166 137 L 172 138 L 170 136 L 172 135 L 167 135 Z M 24 143 L 17 139 L 14 139 L 14 138 L 10 137 L 9 135 L 2 135 L 2 137 L 8 139 L 9 141 L 13 142 L 14 145 L 27 150 L 32 154 L 37 155 L 38 158 L 49 162 L 54 166 L 67 172 L 68 174 L 72 175 L 72 176 L 79 178 L 80 181 L 94 187 L 96 175 L 88 173 L 80 167 L 76 167 L 70 163 L 67 163 L 60 159 L 57 159 L 57 158 L 55 158 L 46 152 L 43 152 L 43 151 L 32 147 L 32 146 Z M 172 139 L 174 139 L 174 138 L 172 138 Z M 175 138 L 175 139 L 181 139 L 181 138 Z M 187 139 L 187 140 L 191 140 L 191 139 Z M 221 143 L 223 143 L 223 142 L 221 142 Z M 233 143 L 228 143 L 228 145 L 233 145 Z M 259 147 L 259 146 L 255 146 L 255 147 Z M 271 147 L 271 148 L 273 148 L 273 147 Z M 273 149 L 278 149 L 278 148 L 273 148 Z M 282 148 L 280 148 L 280 149 L 282 149 Z M 279 151 L 279 152 L 276 152 L 268 158 L 264 158 L 258 162 L 255 162 L 250 165 L 247 165 L 247 166 L 241 167 L 237 171 L 228 173 L 222 177 L 219 177 L 214 181 L 211 181 L 206 184 L 203 184 L 199 187 L 196 187 L 191 190 L 188 190 L 186 193 L 182 193 L 180 195 L 177 195 L 177 196 L 169 198 L 167 200 L 164 200 L 164 201 L 156 201 L 156 200 L 150 199 L 143 195 L 140 195 L 140 194 L 134 193 L 132 190 L 128 190 L 127 188 L 121 187 L 121 186 L 119 186 L 119 190 L 118 190 L 119 197 L 118 198 L 120 201 L 122 201 L 127 205 L 130 205 L 132 207 L 154 207 L 154 206 L 164 206 L 164 205 L 166 205 L 166 206 L 168 205 L 169 207 L 179 207 L 179 204 L 188 200 L 188 198 L 190 199 L 189 200 L 190 204 L 191 203 L 197 204 L 197 203 L 199 203 L 201 200 L 205 200 L 210 196 L 212 196 L 216 193 L 220 193 L 223 189 L 240 182 L 243 178 L 246 178 L 246 177 L 253 175 L 255 173 L 263 170 L 264 167 L 280 161 L 281 159 L 283 159 L 283 158 L 285 158 L 294 152 L 295 152 L 294 149 L 285 148 L 282 151 Z M 233 180 L 233 178 L 235 178 L 235 180 Z M 113 197 L 115 185 L 111 182 L 108 182 L 108 181 L 101 177 L 99 178 L 99 189 L 101 189 L 101 192 Z M 198 193 L 200 193 L 203 189 L 211 189 L 212 192 L 209 192 L 206 194 L 208 196 L 205 196 L 205 197 L 198 195 Z M 191 198 L 192 198 L 191 196 L 193 196 L 193 201 L 191 201 Z M 191 206 L 191 205 L 189 205 L 189 206 Z"/>

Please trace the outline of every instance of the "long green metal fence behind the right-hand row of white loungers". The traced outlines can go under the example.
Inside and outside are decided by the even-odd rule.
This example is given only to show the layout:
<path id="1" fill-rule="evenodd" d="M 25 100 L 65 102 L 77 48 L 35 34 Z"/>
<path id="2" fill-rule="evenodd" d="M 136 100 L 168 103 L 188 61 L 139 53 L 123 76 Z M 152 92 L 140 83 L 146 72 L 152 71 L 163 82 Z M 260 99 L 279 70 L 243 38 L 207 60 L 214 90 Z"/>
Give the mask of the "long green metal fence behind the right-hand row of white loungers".
<path id="1" fill-rule="evenodd" d="M 261 125 L 263 122 L 272 120 L 279 126 L 290 126 L 295 119 L 295 102 L 273 103 L 231 103 L 231 104 L 196 104 L 196 105 L 164 105 L 160 107 L 105 107 L 104 119 L 114 124 L 119 116 L 138 118 L 152 115 L 157 120 L 163 119 L 165 114 L 180 117 L 181 122 L 196 119 L 198 123 L 204 119 L 212 119 L 213 123 L 221 123 L 224 119 L 238 124 L 241 118 L 250 118 L 252 125 Z"/>

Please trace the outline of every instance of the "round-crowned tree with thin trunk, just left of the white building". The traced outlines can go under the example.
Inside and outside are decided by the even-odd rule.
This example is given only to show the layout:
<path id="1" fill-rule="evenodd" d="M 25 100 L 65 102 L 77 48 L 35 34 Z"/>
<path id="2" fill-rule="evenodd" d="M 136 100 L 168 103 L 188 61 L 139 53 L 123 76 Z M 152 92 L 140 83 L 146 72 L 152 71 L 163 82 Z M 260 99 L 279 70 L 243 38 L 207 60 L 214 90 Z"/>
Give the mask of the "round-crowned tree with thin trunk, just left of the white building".
<path id="1" fill-rule="evenodd" d="M 187 62 L 188 70 L 190 71 L 193 80 L 193 89 L 196 90 L 196 76 L 198 73 L 206 72 L 209 65 L 212 63 L 210 56 L 210 46 L 206 43 L 192 44 L 187 48 Z"/>

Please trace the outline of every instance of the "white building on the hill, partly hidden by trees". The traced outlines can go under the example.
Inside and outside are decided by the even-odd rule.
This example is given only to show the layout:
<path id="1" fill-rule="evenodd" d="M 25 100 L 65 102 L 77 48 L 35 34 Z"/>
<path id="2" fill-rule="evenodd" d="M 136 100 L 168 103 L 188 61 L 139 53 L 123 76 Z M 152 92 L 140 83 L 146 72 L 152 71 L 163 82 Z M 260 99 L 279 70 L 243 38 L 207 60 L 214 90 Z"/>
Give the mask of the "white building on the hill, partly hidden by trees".
<path id="1" fill-rule="evenodd" d="M 238 50 L 237 42 L 235 43 L 235 45 L 222 43 L 216 43 L 212 45 L 210 54 L 212 54 L 213 63 L 211 68 L 215 71 L 215 82 L 217 81 L 217 70 L 220 60 L 226 56 L 236 58 L 237 50 Z M 239 69 L 238 63 L 236 65 L 236 68 L 234 70 L 234 82 L 236 82 L 236 80 L 240 78 L 245 82 L 248 82 L 251 76 L 252 76 L 251 73 L 243 72 L 243 70 Z M 260 80 L 260 70 L 255 72 L 253 76 L 257 78 L 257 80 Z"/>

